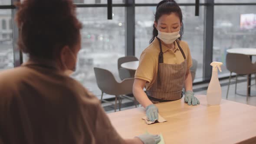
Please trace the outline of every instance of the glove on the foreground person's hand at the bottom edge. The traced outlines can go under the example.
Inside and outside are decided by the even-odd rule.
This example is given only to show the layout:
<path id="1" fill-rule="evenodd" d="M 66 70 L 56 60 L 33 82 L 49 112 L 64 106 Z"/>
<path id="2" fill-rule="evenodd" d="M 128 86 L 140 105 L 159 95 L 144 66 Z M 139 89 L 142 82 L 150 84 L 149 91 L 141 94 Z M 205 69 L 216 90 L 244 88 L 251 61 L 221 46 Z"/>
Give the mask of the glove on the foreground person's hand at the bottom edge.
<path id="1" fill-rule="evenodd" d="M 157 144 L 161 141 L 161 137 L 158 134 L 141 134 L 137 137 L 143 144 Z"/>

